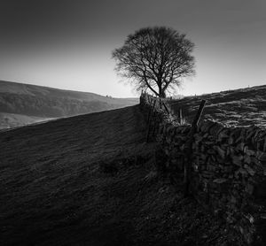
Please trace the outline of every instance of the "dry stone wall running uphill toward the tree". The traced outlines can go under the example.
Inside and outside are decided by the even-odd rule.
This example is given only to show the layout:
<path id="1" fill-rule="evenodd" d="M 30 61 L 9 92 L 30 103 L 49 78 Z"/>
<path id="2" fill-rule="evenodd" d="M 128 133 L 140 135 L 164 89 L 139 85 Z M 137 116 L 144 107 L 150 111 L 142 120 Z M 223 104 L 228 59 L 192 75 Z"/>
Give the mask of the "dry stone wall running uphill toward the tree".
<path id="1" fill-rule="evenodd" d="M 165 169 L 183 179 L 185 144 L 190 125 L 152 104 L 143 94 L 140 106 L 164 152 Z M 151 113 L 151 111 L 153 112 Z M 247 243 L 264 241 L 266 219 L 266 130 L 259 127 L 225 127 L 202 120 L 192 136 L 192 195 L 243 234 Z"/>

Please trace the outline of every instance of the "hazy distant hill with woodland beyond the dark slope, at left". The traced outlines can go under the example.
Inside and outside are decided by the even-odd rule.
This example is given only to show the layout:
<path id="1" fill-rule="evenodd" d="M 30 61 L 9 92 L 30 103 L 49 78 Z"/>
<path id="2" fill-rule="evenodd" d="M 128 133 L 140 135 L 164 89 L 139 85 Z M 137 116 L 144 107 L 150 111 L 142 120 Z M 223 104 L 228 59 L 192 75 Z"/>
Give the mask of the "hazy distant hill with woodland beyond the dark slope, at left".
<path id="1" fill-rule="evenodd" d="M 0 129 L 138 104 L 89 92 L 0 81 Z"/>

